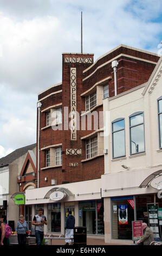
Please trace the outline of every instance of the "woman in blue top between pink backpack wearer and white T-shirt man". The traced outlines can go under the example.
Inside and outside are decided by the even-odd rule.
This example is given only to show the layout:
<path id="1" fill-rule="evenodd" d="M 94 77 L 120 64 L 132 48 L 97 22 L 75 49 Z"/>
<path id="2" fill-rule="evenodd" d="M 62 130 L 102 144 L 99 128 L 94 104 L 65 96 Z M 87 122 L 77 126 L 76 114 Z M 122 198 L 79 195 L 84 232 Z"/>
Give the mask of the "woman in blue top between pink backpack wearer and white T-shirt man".
<path id="1" fill-rule="evenodd" d="M 27 231 L 29 231 L 28 224 L 24 220 L 24 216 L 20 215 L 19 221 L 16 224 L 16 235 L 17 235 L 18 245 L 26 245 Z"/>

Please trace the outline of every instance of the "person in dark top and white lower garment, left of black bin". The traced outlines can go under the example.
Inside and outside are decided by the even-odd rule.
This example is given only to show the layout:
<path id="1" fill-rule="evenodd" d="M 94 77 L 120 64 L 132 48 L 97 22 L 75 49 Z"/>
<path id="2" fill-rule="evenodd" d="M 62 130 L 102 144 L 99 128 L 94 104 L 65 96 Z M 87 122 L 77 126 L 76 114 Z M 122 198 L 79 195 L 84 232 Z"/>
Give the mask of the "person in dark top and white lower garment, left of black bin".
<path id="1" fill-rule="evenodd" d="M 66 245 L 69 245 L 72 240 L 70 238 L 74 238 L 74 227 L 75 227 L 75 217 L 72 215 L 72 211 L 69 211 L 68 217 L 66 220 L 65 231 L 66 231 Z"/>

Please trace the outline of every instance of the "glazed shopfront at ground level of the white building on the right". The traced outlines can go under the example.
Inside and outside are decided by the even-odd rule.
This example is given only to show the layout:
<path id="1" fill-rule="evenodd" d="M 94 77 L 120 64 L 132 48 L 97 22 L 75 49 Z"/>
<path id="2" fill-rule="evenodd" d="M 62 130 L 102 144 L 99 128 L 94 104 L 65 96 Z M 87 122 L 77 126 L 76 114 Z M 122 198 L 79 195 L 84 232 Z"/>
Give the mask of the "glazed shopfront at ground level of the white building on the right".
<path id="1" fill-rule="evenodd" d="M 161 241 L 161 209 L 157 193 L 112 197 L 112 239 L 132 240 L 132 221 L 142 221 L 152 229 L 155 240 Z"/>

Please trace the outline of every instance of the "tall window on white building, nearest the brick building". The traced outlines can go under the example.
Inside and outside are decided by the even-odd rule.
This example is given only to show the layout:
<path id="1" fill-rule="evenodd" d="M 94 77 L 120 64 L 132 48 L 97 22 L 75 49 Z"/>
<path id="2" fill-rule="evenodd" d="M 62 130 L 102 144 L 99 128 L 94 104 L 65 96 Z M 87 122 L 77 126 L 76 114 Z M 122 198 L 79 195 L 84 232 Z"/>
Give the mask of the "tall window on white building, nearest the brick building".
<path id="1" fill-rule="evenodd" d="M 116 119 L 112 123 L 113 158 L 125 156 L 125 120 Z"/>

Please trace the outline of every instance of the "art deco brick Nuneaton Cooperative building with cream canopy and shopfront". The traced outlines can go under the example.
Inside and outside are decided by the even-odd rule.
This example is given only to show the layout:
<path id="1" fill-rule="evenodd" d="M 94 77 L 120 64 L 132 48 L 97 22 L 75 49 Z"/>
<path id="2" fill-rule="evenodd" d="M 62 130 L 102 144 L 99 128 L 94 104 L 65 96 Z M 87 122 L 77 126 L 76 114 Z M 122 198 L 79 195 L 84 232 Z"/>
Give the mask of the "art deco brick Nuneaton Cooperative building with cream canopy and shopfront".
<path id="1" fill-rule="evenodd" d="M 93 54 L 62 54 L 62 82 L 38 94 L 37 188 L 25 191 L 33 215 L 38 206 L 44 208 L 46 233 L 64 234 L 67 211 L 72 210 L 76 226 L 110 240 L 111 207 L 104 180 L 111 184 L 108 174 L 113 170 L 107 163 L 115 160 L 109 159 L 109 141 L 103 136 L 108 114 L 103 115 L 115 105 L 103 109 L 103 101 L 122 101 L 119 95 L 145 86 L 158 60 L 157 54 L 125 45 L 95 62 Z M 116 116 L 118 112 L 116 108 Z"/>

